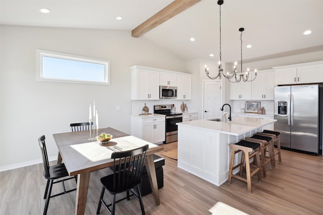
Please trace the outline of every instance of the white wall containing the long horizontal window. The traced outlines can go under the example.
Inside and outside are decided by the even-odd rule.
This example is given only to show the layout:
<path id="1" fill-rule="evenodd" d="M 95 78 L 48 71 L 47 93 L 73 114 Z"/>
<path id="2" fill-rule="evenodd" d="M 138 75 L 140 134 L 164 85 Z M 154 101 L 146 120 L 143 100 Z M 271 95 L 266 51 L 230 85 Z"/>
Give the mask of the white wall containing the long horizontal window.
<path id="1" fill-rule="evenodd" d="M 46 136 L 49 157 L 58 150 L 53 133 L 88 120 L 93 104 L 100 127 L 130 133 L 131 65 L 185 72 L 177 56 L 130 31 L 0 26 L 0 171 L 39 163 L 37 138 Z M 111 85 L 36 82 L 36 49 L 111 61 Z M 166 63 L 167 62 L 167 63 Z M 121 106 L 121 111 L 116 111 Z"/>

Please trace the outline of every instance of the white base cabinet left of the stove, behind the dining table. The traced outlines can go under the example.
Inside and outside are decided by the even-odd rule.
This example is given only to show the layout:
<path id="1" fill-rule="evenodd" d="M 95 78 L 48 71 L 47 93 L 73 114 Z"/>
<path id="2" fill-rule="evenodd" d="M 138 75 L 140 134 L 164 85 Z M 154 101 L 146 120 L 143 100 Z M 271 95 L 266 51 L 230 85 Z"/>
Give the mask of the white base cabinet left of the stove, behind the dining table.
<path id="1" fill-rule="evenodd" d="M 156 144 L 165 141 L 165 116 L 131 116 L 131 135 Z"/>

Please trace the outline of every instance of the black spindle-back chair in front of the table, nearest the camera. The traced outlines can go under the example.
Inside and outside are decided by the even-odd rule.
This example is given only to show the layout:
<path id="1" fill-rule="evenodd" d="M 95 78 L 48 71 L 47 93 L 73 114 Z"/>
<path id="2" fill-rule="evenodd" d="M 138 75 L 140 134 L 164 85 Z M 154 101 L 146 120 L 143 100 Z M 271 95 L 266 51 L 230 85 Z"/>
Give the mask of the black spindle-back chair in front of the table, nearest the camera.
<path id="1" fill-rule="evenodd" d="M 111 158 L 114 160 L 114 173 L 100 179 L 103 187 L 96 214 L 100 213 L 102 203 L 110 214 L 115 214 L 116 203 L 125 199 L 130 200 L 130 196 L 134 196 L 139 200 L 141 213 L 143 215 L 145 214 L 139 186 L 141 184 L 141 173 L 143 171 L 148 147 L 148 145 L 145 145 L 134 150 L 112 153 Z M 109 205 L 103 200 L 105 189 L 113 195 L 112 203 Z M 134 191 L 136 191 L 137 194 Z M 122 192 L 127 192 L 127 196 L 116 200 L 116 195 Z"/>

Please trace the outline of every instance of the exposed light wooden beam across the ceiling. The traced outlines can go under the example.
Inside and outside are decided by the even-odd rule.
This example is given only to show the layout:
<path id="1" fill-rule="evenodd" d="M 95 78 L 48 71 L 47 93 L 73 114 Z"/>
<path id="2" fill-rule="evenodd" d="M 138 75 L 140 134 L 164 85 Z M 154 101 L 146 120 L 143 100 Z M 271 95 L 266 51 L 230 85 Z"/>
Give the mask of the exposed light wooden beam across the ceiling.
<path id="1" fill-rule="evenodd" d="M 155 15 L 141 23 L 135 29 L 131 31 L 132 37 L 138 38 L 144 33 L 150 31 L 151 29 L 157 27 L 161 23 L 171 19 L 177 14 L 185 11 L 189 7 L 195 5 L 201 0 L 175 0 L 168 6 L 166 6 L 161 11 L 157 12 Z"/>

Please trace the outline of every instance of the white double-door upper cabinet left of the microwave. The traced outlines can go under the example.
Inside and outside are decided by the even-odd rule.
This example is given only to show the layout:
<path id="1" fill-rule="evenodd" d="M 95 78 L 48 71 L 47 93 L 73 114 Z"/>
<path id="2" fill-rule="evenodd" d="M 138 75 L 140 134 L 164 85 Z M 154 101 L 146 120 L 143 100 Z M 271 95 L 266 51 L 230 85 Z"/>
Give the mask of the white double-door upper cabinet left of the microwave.
<path id="1" fill-rule="evenodd" d="M 159 73 L 131 66 L 131 99 L 158 100 Z"/>

